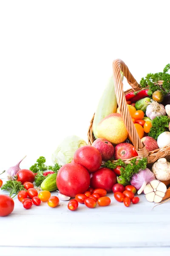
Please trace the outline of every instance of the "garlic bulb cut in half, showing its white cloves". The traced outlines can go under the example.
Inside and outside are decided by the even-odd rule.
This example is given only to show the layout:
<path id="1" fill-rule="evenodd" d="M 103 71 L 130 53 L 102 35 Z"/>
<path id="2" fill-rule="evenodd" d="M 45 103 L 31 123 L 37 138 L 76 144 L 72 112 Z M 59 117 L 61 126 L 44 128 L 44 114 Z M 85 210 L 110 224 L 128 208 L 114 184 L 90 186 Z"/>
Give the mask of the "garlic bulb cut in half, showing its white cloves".
<path id="1" fill-rule="evenodd" d="M 144 188 L 144 194 L 149 202 L 160 203 L 164 198 L 167 187 L 159 180 L 152 180 Z"/>

